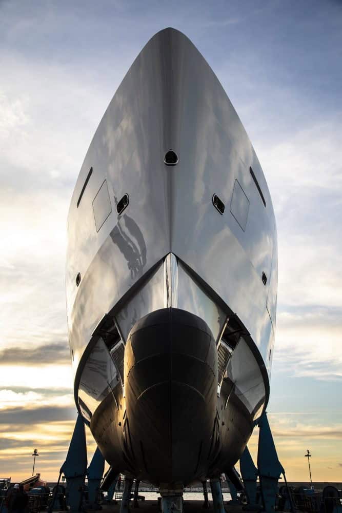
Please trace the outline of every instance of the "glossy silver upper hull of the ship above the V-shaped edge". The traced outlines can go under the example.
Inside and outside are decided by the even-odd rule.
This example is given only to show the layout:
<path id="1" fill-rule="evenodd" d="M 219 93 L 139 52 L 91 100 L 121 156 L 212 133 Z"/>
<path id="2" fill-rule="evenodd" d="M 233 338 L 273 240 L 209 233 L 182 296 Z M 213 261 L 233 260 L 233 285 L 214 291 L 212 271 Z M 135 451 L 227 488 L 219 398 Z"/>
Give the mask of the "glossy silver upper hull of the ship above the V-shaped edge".
<path id="1" fill-rule="evenodd" d="M 163 163 L 170 147 L 179 155 L 171 168 Z M 104 179 L 112 211 L 96 232 L 92 201 Z M 245 232 L 229 210 L 236 179 L 250 202 Z M 118 215 L 116 204 L 125 193 L 129 206 Z M 213 208 L 214 193 L 226 204 L 223 216 Z M 229 98 L 183 34 L 156 34 L 110 103 L 70 206 L 66 284 L 75 370 L 103 315 L 171 251 L 238 313 L 270 369 L 269 282 L 263 285 L 261 273 L 269 278 L 273 235 L 266 181 Z"/>

